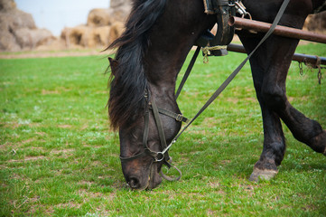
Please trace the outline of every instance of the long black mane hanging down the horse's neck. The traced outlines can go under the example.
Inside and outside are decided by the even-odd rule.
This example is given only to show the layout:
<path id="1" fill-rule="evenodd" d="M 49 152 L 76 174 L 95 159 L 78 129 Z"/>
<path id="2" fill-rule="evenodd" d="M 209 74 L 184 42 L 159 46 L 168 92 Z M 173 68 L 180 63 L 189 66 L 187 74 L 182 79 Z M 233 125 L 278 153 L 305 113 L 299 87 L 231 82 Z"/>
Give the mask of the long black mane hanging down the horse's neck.
<path id="1" fill-rule="evenodd" d="M 110 61 L 109 99 L 107 102 L 111 127 L 131 128 L 144 114 L 144 53 L 149 44 L 149 32 L 163 14 L 167 0 L 133 0 L 125 32 L 107 49 L 117 48 L 115 60 Z"/>

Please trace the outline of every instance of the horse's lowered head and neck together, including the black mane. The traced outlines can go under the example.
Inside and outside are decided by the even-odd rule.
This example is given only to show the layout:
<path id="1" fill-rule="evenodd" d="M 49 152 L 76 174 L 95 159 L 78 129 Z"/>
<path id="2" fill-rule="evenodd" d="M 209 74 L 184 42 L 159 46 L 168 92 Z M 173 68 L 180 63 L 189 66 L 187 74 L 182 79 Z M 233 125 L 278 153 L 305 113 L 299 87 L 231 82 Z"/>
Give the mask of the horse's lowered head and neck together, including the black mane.
<path id="1" fill-rule="evenodd" d="M 162 182 L 161 168 L 170 160 L 167 146 L 184 120 L 174 94 L 176 77 L 196 39 L 215 21 L 203 13 L 200 1 L 180 14 L 187 4 L 134 1 L 125 32 L 108 47 L 117 48 L 115 60 L 109 59 L 108 113 L 119 131 L 122 171 L 133 189 Z"/>

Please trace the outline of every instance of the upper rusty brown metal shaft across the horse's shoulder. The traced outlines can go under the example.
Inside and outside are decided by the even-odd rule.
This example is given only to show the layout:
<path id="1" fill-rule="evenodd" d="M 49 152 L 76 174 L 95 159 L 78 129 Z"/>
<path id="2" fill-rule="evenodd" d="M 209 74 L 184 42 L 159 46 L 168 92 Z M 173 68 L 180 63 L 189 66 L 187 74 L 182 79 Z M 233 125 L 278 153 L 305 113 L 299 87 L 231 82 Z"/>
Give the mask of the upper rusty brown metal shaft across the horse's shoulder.
<path id="1" fill-rule="evenodd" d="M 247 29 L 256 32 L 263 32 L 263 33 L 266 33 L 272 25 L 264 22 L 239 18 L 236 16 L 231 16 L 228 20 L 228 24 L 231 26 L 235 26 L 236 28 L 242 28 L 242 29 Z M 326 34 L 312 33 L 300 29 L 286 27 L 283 25 L 277 25 L 273 33 L 288 38 L 302 39 L 311 42 L 326 43 Z"/>

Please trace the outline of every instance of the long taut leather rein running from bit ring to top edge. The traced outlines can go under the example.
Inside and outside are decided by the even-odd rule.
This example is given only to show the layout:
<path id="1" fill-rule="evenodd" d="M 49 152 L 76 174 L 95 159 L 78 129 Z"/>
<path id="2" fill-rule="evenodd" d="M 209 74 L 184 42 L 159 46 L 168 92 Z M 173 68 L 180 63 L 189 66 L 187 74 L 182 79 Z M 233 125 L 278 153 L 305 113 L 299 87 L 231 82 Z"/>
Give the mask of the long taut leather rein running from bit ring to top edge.
<path id="1" fill-rule="evenodd" d="M 217 99 L 217 97 L 219 97 L 219 94 L 225 90 L 227 87 L 228 87 L 228 84 L 231 82 L 231 80 L 233 80 L 238 72 L 243 68 L 243 66 L 246 64 L 246 62 L 250 59 L 250 57 L 256 52 L 256 50 L 258 49 L 258 47 L 263 43 L 265 42 L 265 40 L 274 32 L 275 30 L 275 27 L 276 25 L 278 24 L 278 22 L 280 21 L 282 15 L 284 14 L 284 11 L 286 9 L 286 6 L 289 4 L 290 0 L 284 0 L 283 4 L 281 5 L 278 13 L 276 14 L 275 16 L 275 20 L 271 26 L 271 28 L 268 30 L 267 33 L 265 33 L 265 36 L 263 37 L 263 39 L 256 45 L 256 48 L 250 52 L 249 55 L 247 55 L 247 58 L 242 61 L 240 63 L 240 65 L 238 66 L 238 68 L 233 71 L 229 76 L 228 76 L 228 79 L 225 80 L 220 86 L 219 86 L 219 89 L 216 90 L 214 92 L 214 94 L 210 97 L 210 99 L 203 105 L 203 107 L 198 111 L 198 113 L 194 116 L 194 118 L 191 119 L 191 121 L 185 126 L 182 128 L 182 131 L 176 136 L 174 137 L 174 139 L 172 140 L 172 143 L 169 145 L 169 146 L 172 146 L 172 144 L 174 144 L 176 142 L 176 140 L 182 135 L 182 133 L 191 125 L 191 123 L 200 116 L 200 114 L 205 110 L 207 109 L 210 104 L 215 100 Z"/>

